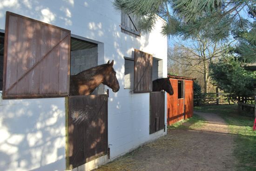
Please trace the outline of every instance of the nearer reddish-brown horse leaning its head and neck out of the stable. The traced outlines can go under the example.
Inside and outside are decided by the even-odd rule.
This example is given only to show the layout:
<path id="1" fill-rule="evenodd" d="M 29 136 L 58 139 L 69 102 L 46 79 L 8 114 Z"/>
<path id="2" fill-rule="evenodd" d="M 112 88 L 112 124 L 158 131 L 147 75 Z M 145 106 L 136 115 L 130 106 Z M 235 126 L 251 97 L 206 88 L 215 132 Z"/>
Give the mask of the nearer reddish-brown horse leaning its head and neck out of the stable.
<path id="1" fill-rule="evenodd" d="M 70 76 L 70 95 L 89 95 L 101 83 L 108 85 L 113 92 L 118 92 L 119 83 L 113 68 L 114 60 L 109 64 L 95 66 Z"/>

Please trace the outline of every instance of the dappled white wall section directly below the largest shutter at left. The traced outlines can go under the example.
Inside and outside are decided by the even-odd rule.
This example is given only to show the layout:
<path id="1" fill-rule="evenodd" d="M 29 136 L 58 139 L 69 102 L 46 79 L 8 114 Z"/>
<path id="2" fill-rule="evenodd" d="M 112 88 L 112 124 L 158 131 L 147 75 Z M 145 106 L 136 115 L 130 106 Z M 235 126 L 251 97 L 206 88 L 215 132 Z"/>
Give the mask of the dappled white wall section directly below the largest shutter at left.
<path id="1" fill-rule="evenodd" d="M 65 170 L 64 100 L 0 103 L 0 170 Z"/>

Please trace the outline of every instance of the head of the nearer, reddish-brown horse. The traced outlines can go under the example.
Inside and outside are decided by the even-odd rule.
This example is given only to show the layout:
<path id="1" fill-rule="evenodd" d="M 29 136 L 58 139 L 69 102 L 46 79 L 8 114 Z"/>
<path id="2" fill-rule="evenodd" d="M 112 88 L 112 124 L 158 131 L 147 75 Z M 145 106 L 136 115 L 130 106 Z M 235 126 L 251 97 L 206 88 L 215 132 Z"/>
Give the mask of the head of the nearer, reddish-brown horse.
<path id="1" fill-rule="evenodd" d="M 110 87 L 113 92 L 118 92 L 120 87 L 119 87 L 118 80 L 115 76 L 116 72 L 113 68 L 113 65 L 114 65 L 114 60 L 112 60 L 111 63 L 109 63 L 109 60 L 108 60 L 107 68 L 104 73 L 103 84 L 108 85 L 108 87 Z"/>

